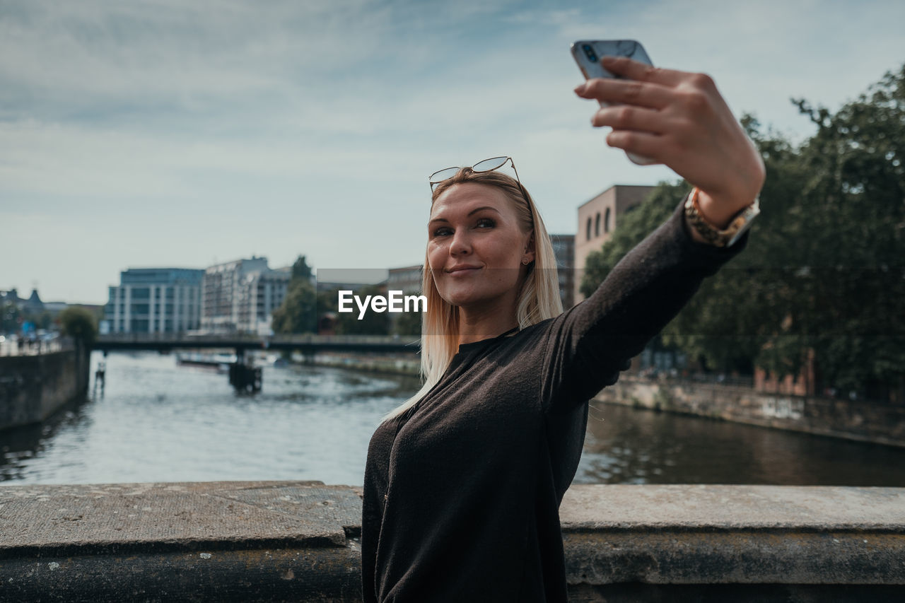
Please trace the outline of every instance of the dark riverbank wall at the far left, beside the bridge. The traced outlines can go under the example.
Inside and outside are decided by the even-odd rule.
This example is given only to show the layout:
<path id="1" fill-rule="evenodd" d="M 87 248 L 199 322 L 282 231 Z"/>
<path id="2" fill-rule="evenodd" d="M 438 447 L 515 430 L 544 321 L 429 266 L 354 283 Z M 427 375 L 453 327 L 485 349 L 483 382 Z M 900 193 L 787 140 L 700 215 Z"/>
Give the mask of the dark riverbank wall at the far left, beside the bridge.
<path id="1" fill-rule="evenodd" d="M 0 357 L 0 430 L 39 423 L 88 392 L 89 352 Z"/>

